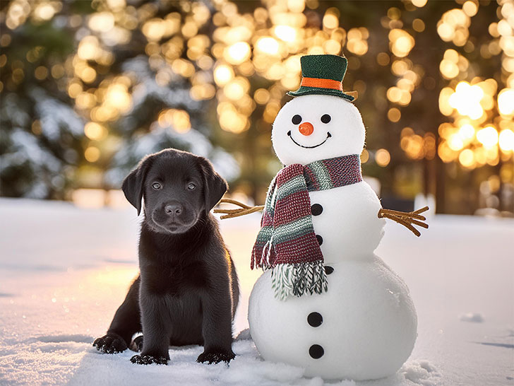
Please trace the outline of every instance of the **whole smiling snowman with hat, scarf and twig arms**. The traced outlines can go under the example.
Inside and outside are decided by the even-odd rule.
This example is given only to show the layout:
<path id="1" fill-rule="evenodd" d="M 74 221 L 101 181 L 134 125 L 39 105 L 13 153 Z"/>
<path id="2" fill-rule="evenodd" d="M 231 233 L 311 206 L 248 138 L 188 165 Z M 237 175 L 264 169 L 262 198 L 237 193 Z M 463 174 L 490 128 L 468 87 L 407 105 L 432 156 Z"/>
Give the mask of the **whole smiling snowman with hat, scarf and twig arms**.
<path id="1" fill-rule="evenodd" d="M 301 86 L 289 93 L 296 98 L 273 123 L 284 168 L 268 189 L 252 251 L 252 268 L 264 272 L 248 318 L 267 361 L 325 380 L 373 380 L 395 373 L 417 337 L 407 286 L 373 251 L 384 218 L 426 228 L 425 209 L 382 209 L 362 180 L 365 129 L 354 96 L 342 90 L 346 67 L 345 57 L 301 57 Z"/>

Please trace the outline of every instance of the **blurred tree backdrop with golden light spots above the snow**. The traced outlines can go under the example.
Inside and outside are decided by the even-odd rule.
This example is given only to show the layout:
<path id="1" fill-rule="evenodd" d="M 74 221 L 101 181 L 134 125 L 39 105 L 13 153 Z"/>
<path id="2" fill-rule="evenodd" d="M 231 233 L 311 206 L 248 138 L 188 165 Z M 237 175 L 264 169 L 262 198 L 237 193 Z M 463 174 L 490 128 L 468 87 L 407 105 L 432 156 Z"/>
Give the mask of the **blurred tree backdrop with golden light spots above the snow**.
<path id="1" fill-rule="evenodd" d="M 349 60 L 364 174 L 384 204 L 423 193 L 441 213 L 514 211 L 512 0 L 12 0 L 0 12 L 4 196 L 118 188 L 173 146 L 261 203 L 299 58 L 328 53 Z"/>

